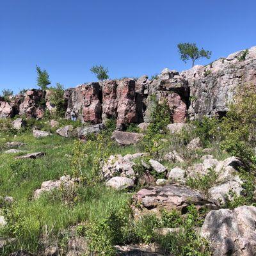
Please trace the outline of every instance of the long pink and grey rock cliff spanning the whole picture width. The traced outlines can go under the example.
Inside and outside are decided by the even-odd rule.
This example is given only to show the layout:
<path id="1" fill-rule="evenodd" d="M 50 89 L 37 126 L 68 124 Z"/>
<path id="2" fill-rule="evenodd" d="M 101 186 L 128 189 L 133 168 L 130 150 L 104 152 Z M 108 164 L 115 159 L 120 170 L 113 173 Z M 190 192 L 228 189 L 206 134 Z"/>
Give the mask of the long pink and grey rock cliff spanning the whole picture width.
<path id="1" fill-rule="evenodd" d="M 131 123 L 150 122 L 153 95 L 158 102 L 168 104 L 173 123 L 183 123 L 187 118 L 200 119 L 204 115 L 223 116 L 237 86 L 256 84 L 256 47 L 248 50 L 245 60 L 239 58 L 241 54 L 243 51 L 235 52 L 183 72 L 165 68 L 153 80 L 142 76 L 81 84 L 65 91 L 65 116 L 90 124 L 116 118 L 116 129 L 124 130 Z M 54 111 L 49 95 L 49 90 L 33 89 L 8 100 L 1 97 L 0 118 L 16 114 L 42 118 L 45 109 Z M 170 131 L 179 127 L 181 125 L 170 125 Z"/>

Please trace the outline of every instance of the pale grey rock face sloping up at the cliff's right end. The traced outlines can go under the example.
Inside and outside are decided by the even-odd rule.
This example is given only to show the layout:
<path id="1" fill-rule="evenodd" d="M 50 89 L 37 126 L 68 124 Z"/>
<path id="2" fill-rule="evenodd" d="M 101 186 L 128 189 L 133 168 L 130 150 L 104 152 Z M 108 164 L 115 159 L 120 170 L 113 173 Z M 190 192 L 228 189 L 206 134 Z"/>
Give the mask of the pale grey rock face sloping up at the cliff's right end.
<path id="1" fill-rule="evenodd" d="M 256 84 L 256 47 L 249 49 L 244 61 L 237 59 L 241 54 L 242 51 L 235 52 L 205 67 L 195 66 L 181 73 L 190 88 L 189 118 L 222 116 L 239 84 Z"/>

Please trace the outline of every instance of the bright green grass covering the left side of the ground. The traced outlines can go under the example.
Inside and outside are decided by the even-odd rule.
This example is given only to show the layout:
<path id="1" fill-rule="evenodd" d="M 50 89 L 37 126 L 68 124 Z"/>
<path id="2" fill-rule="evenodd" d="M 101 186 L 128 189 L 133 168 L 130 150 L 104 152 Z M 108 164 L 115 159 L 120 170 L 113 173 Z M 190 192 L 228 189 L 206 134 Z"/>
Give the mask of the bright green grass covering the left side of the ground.
<path id="1" fill-rule="evenodd" d="M 64 228 L 88 220 L 106 218 L 113 209 L 128 205 L 131 194 L 106 188 L 99 182 L 95 186 L 77 188 L 74 202 L 66 204 L 61 200 L 61 193 L 55 191 L 33 200 L 33 192 L 40 188 L 45 180 L 56 180 L 62 175 L 72 175 L 71 161 L 74 140 L 58 135 L 46 138 L 33 138 L 31 132 L 18 134 L 16 138 L 1 134 L 6 141 L 21 141 L 27 143 L 20 149 L 28 152 L 46 152 L 39 159 L 19 159 L 19 154 L 0 153 L 0 195 L 13 196 L 14 203 L 8 209 L 10 225 L 0 230 L 2 237 L 15 237 L 17 249 L 23 248 L 29 252 L 38 252 L 42 244 L 38 243 L 42 228 L 51 227 L 52 234 L 57 235 Z M 95 145 L 88 146 L 92 154 L 97 154 Z M 134 147 L 118 147 L 111 143 L 108 152 L 112 154 L 132 154 Z M 85 166 L 84 172 L 90 172 L 90 166 Z M 10 226 L 10 227 L 9 227 Z M 15 250 L 15 247 L 12 250 Z M 7 248 L 9 250 L 10 248 Z M 2 255 L 5 255 L 2 252 Z"/>

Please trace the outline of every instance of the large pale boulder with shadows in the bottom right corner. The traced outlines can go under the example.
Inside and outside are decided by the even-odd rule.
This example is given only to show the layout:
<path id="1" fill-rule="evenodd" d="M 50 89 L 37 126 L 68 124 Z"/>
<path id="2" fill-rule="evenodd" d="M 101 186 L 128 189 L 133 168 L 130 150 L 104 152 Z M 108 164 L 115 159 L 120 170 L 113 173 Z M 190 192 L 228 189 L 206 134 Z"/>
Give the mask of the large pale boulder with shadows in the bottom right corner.
<path id="1" fill-rule="evenodd" d="M 209 240 L 213 256 L 252 256 L 256 253 L 256 207 L 220 209 L 207 214 L 201 236 Z"/>

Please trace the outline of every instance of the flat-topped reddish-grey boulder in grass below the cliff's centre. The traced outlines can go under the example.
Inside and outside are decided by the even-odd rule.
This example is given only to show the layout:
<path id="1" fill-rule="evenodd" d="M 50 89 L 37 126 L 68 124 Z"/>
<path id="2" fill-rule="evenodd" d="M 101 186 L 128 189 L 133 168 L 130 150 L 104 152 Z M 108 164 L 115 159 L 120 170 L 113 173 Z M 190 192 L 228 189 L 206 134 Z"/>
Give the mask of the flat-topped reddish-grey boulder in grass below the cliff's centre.
<path id="1" fill-rule="evenodd" d="M 143 138 L 143 134 L 136 132 L 113 131 L 111 138 L 120 146 L 127 146 L 138 143 Z"/>

